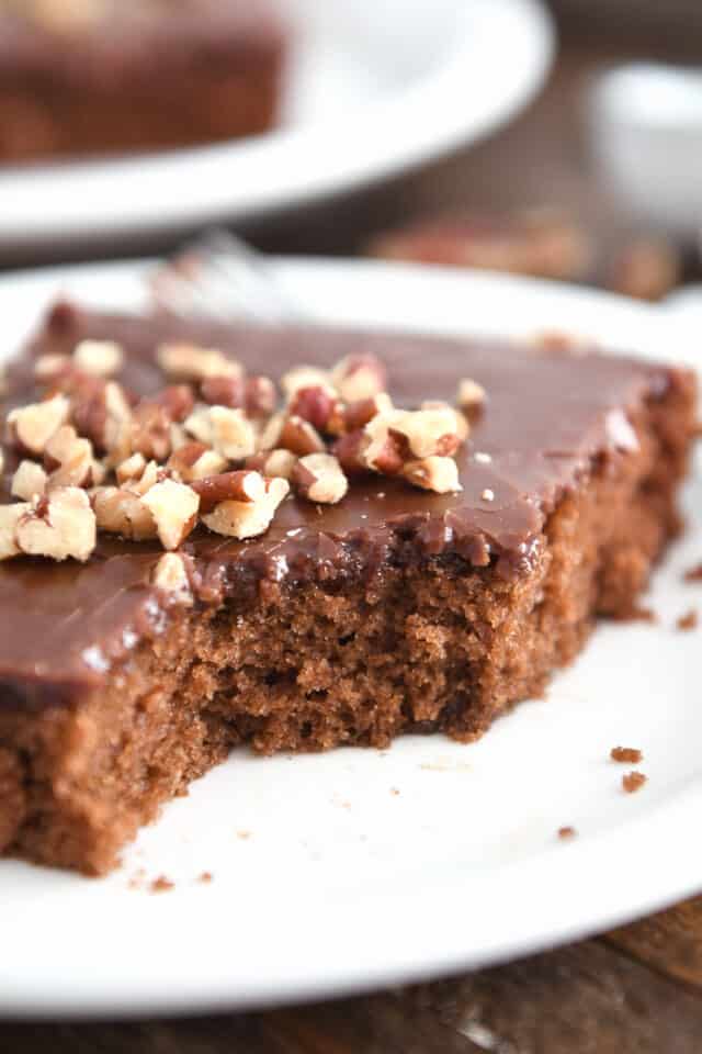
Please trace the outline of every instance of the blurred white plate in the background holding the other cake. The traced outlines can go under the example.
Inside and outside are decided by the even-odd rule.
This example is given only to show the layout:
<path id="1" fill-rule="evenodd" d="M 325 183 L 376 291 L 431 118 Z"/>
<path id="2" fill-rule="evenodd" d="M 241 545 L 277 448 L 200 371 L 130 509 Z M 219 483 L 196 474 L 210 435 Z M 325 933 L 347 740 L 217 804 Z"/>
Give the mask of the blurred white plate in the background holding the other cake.
<path id="1" fill-rule="evenodd" d="M 283 125 L 125 159 L 0 169 L 0 250 L 241 223 L 419 165 L 535 93 L 540 0 L 285 0 L 298 26 Z"/>

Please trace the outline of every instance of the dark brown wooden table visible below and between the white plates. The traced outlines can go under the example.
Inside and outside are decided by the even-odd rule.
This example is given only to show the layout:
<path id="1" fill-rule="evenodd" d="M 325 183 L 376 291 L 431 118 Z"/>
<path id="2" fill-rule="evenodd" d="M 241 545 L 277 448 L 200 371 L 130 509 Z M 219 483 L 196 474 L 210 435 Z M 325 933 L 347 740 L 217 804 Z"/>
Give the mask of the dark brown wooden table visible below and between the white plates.
<path id="1" fill-rule="evenodd" d="M 540 101 L 478 148 L 256 231 L 254 240 L 275 251 L 349 254 L 381 228 L 454 204 L 558 204 L 604 229 L 614 210 L 588 158 L 579 98 L 592 71 L 616 57 L 618 47 L 607 46 L 607 54 L 602 41 L 595 51 L 566 46 Z M 639 46 L 655 54 L 650 42 Z M 689 42 L 679 47 L 687 54 Z M 702 897 L 525 961 L 325 1005 L 158 1022 L 0 1024 L 0 1052 L 44 1051 L 700 1054 Z"/>

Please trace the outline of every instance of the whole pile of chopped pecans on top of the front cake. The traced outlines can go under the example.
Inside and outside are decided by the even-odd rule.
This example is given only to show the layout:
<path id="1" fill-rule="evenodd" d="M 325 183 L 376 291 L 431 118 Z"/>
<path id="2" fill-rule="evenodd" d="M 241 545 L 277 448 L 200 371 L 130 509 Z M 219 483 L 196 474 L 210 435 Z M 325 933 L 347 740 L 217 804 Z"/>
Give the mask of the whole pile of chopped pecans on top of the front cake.
<path id="1" fill-rule="evenodd" d="M 56 335 L 70 330 L 61 323 Z M 319 504 L 343 501 L 349 479 L 369 472 L 460 491 L 454 455 L 469 433 L 466 416 L 486 399 L 464 379 L 461 410 L 435 400 L 396 408 L 385 367 L 360 352 L 331 370 L 290 370 L 281 405 L 270 378 L 247 375 L 217 348 L 173 343 L 157 361 L 174 383 L 138 400 L 110 379 L 123 359 L 113 341 L 82 340 L 72 356 L 35 360 L 48 397 L 8 416 L 9 440 L 25 459 L 11 482 L 21 501 L 0 506 L 0 559 L 84 560 L 98 529 L 158 538 L 169 552 L 154 584 L 181 603 L 192 603 L 190 558 L 172 550 L 197 523 L 238 539 L 261 535 L 291 484 Z"/>

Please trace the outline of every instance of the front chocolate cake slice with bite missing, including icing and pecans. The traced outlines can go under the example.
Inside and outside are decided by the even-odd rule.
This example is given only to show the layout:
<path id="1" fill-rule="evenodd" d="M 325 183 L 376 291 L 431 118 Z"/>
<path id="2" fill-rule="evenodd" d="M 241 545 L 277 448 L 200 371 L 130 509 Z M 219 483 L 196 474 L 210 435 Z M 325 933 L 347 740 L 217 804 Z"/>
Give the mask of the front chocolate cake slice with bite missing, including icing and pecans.
<path id="1" fill-rule="evenodd" d="M 237 744 L 540 693 L 635 606 L 695 416 L 595 351 L 68 304 L 5 385 L 0 849 L 92 874 Z"/>

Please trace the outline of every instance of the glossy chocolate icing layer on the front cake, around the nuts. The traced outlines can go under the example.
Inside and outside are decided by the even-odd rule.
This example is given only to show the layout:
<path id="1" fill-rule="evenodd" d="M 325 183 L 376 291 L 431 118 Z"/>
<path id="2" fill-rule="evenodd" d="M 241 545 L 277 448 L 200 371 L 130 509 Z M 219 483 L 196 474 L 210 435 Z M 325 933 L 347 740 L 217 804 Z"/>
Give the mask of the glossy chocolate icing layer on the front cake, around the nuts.
<path id="1" fill-rule="evenodd" d="M 122 343 L 127 355 L 120 380 L 140 394 L 162 386 L 154 351 L 167 338 L 217 346 L 272 377 L 294 365 L 330 365 L 350 351 L 371 351 L 388 367 L 395 401 L 408 406 L 424 399 L 453 402 L 462 377 L 487 391 L 485 411 L 457 455 L 462 493 L 432 495 L 372 476 L 353 482 L 337 506 L 287 498 L 269 531 L 248 542 L 199 528 L 184 549 L 194 558 L 203 604 L 227 596 L 253 602 L 267 580 L 370 581 L 386 561 L 439 554 L 519 574 L 541 543 L 550 511 L 577 486 L 592 458 L 635 440 L 627 411 L 659 397 L 670 383 L 665 367 L 596 354 L 405 335 L 236 329 L 61 307 L 10 367 L 4 411 L 34 399 L 33 355 L 71 350 L 87 336 Z M 12 456 L 5 461 L 0 501 L 8 500 Z M 486 489 L 494 501 L 483 497 Z M 68 699 L 99 685 L 144 636 L 161 631 L 167 603 L 148 584 L 161 553 L 157 545 L 107 538 L 84 565 L 26 558 L 0 563 L 0 704 Z"/>

